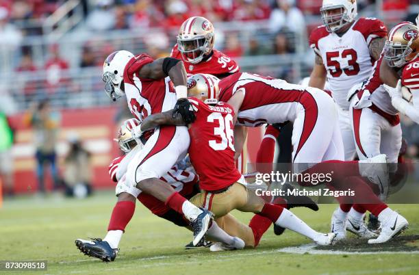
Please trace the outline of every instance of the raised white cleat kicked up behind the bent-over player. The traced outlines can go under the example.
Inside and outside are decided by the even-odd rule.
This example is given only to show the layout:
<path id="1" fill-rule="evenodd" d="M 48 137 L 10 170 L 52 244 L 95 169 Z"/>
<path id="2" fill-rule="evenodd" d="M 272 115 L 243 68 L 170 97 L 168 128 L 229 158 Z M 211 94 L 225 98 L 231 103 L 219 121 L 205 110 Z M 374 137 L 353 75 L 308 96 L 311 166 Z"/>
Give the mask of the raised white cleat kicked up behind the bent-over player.
<path id="1" fill-rule="evenodd" d="M 366 176 L 369 181 L 379 186 L 379 197 L 381 200 L 387 198 L 390 177 L 388 174 L 387 156 L 385 154 L 360 160 L 359 173 L 361 176 Z"/>

